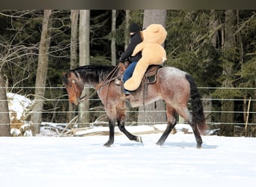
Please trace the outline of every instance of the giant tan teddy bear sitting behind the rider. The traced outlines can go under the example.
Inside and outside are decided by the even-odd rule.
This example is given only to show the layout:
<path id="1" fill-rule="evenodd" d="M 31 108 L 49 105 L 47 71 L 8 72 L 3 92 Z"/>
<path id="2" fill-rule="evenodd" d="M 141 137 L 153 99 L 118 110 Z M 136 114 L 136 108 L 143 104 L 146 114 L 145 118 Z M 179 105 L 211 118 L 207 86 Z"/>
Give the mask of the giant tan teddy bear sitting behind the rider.
<path id="1" fill-rule="evenodd" d="M 142 51 L 132 77 L 124 83 L 128 91 L 135 91 L 141 84 L 144 73 L 151 64 L 162 64 L 166 60 L 165 49 L 161 46 L 167 36 L 167 31 L 160 24 L 151 24 L 142 31 L 143 41 L 132 52 L 132 56 Z"/>

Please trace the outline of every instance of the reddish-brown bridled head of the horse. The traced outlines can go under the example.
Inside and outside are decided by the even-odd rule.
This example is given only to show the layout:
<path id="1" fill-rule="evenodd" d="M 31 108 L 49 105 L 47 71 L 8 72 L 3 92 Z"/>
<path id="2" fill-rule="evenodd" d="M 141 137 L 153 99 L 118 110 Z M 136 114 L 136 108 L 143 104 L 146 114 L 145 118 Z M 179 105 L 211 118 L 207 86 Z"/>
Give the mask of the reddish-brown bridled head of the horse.
<path id="1" fill-rule="evenodd" d="M 74 73 L 72 71 L 63 73 L 62 82 L 67 90 L 70 102 L 79 105 L 80 96 L 84 89 L 84 83 L 82 82 L 79 73 Z"/>

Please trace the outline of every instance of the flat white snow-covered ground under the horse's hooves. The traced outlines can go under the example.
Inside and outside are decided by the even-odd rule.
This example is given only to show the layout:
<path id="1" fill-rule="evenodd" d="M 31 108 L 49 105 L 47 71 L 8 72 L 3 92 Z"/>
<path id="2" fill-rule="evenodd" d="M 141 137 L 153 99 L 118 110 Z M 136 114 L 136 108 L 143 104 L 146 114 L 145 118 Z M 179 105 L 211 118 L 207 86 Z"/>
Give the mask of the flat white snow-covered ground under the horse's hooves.
<path id="1" fill-rule="evenodd" d="M 0 138 L 0 186 L 255 186 L 256 138 L 161 135 Z"/>

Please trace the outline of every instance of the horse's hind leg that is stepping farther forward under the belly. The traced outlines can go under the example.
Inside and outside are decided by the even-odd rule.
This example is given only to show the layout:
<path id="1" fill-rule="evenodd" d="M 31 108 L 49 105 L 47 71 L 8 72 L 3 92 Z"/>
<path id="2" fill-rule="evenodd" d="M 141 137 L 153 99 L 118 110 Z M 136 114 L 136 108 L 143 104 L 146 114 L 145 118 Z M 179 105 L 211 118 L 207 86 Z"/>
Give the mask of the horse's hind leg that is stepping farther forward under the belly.
<path id="1" fill-rule="evenodd" d="M 162 145 L 165 143 L 166 138 L 168 137 L 168 135 L 171 133 L 171 130 L 174 129 L 174 126 L 176 125 L 175 109 L 170 106 L 167 106 L 166 113 L 168 118 L 168 124 L 166 126 L 165 132 L 162 133 L 161 138 L 159 138 L 159 141 L 156 142 L 156 144 L 158 145 Z"/>

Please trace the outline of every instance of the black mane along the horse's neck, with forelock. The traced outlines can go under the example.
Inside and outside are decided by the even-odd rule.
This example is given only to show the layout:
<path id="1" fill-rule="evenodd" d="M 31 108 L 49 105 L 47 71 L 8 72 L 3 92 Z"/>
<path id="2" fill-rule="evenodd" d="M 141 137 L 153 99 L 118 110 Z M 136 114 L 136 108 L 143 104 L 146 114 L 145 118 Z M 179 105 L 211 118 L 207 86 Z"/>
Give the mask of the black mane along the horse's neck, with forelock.
<path id="1" fill-rule="evenodd" d="M 86 65 L 82 67 L 76 67 L 75 69 L 70 70 L 69 73 L 75 73 L 77 77 L 80 77 L 83 82 L 88 85 L 95 85 L 105 80 L 114 68 L 115 67 L 113 66 Z M 79 75 L 77 73 L 79 73 Z M 67 74 L 64 76 L 63 80 L 64 83 L 67 83 Z"/>

